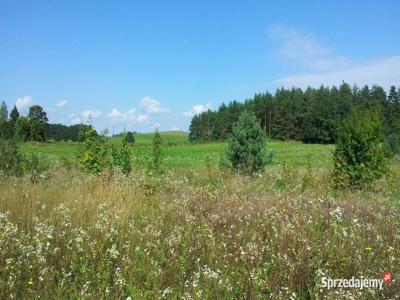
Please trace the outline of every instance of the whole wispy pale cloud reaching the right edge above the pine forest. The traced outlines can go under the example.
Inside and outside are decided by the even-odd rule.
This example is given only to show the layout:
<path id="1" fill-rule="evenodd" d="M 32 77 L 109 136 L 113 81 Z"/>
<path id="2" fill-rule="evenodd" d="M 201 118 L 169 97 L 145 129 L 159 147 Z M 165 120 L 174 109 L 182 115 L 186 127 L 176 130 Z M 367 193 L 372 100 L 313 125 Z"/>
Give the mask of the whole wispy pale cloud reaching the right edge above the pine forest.
<path id="1" fill-rule="evenodd" d="M 356 61 L 340 56 L 311 34 L 285 26 L 274 26 L 269 35 L 279 43 L 277 55 L 288 64 L 301 67 L 298 74 L 278 78 L 275 86 L 306 88 L 308 86 L 379 84 L 385 88 L 400 81 L 400 55 Z"/>

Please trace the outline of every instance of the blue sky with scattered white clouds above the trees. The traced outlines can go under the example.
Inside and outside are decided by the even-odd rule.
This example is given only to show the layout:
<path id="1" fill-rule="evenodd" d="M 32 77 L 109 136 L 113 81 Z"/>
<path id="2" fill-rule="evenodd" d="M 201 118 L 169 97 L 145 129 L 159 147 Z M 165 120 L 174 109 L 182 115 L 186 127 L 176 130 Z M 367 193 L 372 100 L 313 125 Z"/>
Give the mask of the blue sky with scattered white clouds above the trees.
<path id="1" fill-rule="evenodd" d="M 399 1 L 0 0 L 0 100 L 111 133 L 187 130 L 280 86 L 399 86 L 399 37 Z"/>

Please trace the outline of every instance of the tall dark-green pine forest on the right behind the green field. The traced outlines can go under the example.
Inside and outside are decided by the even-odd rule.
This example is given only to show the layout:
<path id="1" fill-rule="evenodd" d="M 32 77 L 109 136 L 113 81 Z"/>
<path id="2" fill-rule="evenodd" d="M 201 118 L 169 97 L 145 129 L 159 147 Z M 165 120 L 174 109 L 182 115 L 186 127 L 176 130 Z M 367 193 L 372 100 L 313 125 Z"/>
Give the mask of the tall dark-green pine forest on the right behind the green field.
<path id="1" fill-rule="evenodd" d="M 256 94 L 243 103 L 221 104 L 194 116 L 191 141 L 225 140 L 244 111 L 252 112 L 264 132 L 276 139 L 307 143 L 335 143 L 341 122 L 352 110 L 376 111 L 386 135 L 400 132 L 400 88 L 388 93 L 378 85 L 358 88 L 343 82 L 339 87 L 280 88 L 275 94 Z"/>

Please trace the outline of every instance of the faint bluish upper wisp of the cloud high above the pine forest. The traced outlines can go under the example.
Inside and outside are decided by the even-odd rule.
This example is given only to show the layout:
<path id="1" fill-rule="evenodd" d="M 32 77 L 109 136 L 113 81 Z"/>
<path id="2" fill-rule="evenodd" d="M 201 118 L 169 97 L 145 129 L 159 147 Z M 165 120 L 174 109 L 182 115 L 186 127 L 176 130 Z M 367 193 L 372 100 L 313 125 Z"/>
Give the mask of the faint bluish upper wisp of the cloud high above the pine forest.
<path id="1" fill-rule="evenodd" d="M 284 62 L 314 70 L 343 69 L 354 65 L 351 59 L 337 55 L 311 33 L 287 26 L 270 27 L 268 33 L 280 44 L 277 55 Z"/>

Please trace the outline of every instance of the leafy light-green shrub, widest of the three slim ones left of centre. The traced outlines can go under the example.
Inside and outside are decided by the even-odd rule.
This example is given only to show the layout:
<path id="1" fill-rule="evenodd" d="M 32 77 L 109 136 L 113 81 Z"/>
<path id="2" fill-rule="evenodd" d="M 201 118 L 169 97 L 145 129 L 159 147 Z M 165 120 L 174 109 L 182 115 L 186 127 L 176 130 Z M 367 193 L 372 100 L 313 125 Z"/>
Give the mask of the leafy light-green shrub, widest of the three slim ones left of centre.
<path id="1" fill-rule="evenodd" d="M 99 175 L 108 165 L 105 137 L 97 135 L 92 128 L 85 132 L 84 149 L 79 162 L 83 171 L 93 175 Z"/>

